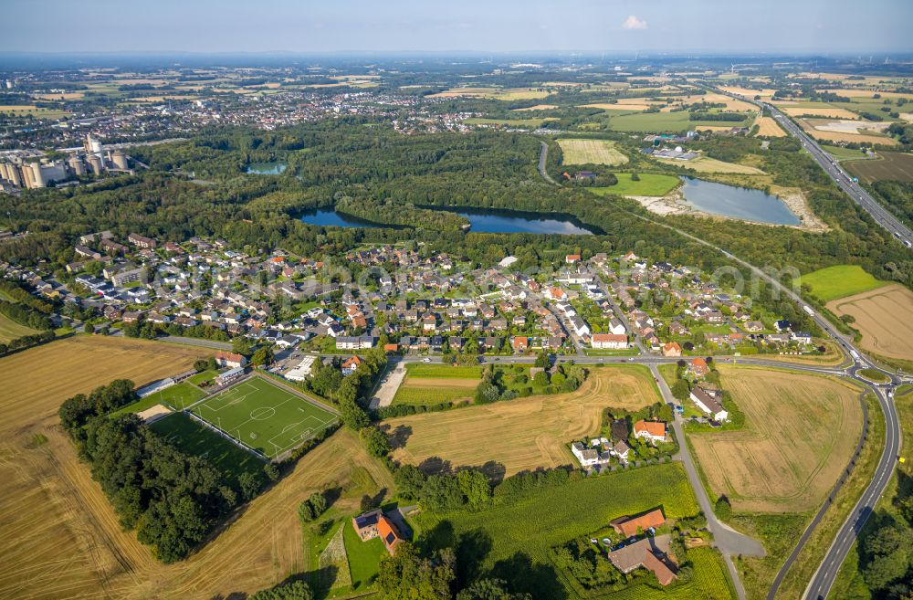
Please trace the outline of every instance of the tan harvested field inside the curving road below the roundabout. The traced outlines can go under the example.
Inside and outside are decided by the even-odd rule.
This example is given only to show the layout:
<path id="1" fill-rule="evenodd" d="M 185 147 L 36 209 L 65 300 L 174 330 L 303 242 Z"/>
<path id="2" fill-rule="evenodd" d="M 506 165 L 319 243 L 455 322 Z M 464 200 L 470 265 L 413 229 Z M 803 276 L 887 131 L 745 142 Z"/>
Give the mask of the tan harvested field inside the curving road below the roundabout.
<path id="1" fill-rule="evenodd" d="M 745 426 L 689 435 L 710 488 L 735 511 L 820 506 L 862 433 L 861 388 L 813 374 L 718 368 Z"/>

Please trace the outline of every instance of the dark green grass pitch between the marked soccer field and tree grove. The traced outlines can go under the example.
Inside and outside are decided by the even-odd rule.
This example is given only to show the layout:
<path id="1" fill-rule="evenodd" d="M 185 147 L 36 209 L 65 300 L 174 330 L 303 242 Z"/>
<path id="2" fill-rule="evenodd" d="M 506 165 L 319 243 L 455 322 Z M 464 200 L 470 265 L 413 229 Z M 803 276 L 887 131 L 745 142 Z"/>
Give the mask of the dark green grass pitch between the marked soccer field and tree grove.
<path id="1" fill-rule="evenodd" d="M 231 479 L 237 479 L 244 472 L 259 473 L 263 470 L 260 458 L 184 413 L 163 416 L 149 428 L 182 452 L 207 459 Z"/>

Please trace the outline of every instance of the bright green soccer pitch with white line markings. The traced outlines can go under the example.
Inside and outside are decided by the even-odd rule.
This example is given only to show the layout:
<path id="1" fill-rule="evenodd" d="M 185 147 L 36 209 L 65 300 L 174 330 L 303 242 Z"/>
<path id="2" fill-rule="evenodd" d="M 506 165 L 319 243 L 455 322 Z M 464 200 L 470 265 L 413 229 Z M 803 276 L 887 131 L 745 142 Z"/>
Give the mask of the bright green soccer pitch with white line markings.
<path id="1" fill-rule="evenodd" d="M 299 446 L 336 422 L 330 411 L 263 377 L 251 377 L 211 395 L 190 412 L 268 458 Z"/>

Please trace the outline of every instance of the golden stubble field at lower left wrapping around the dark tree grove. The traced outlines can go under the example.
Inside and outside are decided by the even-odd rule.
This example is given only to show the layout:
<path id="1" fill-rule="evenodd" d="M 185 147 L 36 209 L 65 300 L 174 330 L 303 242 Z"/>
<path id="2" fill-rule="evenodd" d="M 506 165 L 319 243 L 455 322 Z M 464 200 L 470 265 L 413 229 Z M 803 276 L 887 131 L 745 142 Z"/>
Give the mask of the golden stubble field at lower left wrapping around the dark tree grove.
<path id="1" fill-rule="evenodd" d="M 245 507 L 200 553 L 173 565 L 152 558 L 117 516 L 58 426 L 58 405 L 119 377 L 142 384 L 187 370 L 212 350 L 77 337 L 0 360 L 0 597 L 210 600 L 250 594 L 306 570 L 296 510 L 311 492 L 341 486 L 334 506 L 357 511 L 353 474 L 392 489 L 388 471 L 339 431 Z M 35 434 L 47 437 L 36 445 Z M 357 496 L 357 497 L 356 497 Z"/>

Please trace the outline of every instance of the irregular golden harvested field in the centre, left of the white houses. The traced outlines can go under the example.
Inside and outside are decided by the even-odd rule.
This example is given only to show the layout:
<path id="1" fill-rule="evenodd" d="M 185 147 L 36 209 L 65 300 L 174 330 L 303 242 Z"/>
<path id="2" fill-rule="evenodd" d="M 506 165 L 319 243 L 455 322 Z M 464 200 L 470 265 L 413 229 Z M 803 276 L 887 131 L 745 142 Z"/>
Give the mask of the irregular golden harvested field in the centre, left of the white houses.
<path id="1" fill-rule="evenodd" d="M 440 458 L 453 467 L 495 461 L 506 474 L 570 464 L 566 444 L 598 431 L 603 408 L 636 409 L 659 402 L 650 372 L 641 365 L 591 369 L 571 394 L 535 395 L 457 410 L 405 416 L 386 422 L 411 434 L 394 458 L 420 464 Z"/>

